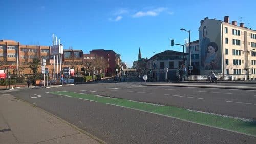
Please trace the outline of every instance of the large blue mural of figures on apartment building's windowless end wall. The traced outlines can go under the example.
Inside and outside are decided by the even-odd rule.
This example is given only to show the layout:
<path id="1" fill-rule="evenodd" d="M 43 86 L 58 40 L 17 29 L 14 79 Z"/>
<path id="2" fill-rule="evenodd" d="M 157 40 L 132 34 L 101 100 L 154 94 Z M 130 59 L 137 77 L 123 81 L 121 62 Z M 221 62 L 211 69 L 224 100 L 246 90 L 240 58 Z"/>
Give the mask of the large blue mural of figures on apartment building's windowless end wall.
<path id="1" fill-rule="evenodd" d="M 222 72 L 221 21 L 206 19 L 199 28 L 200 73 Z"/>

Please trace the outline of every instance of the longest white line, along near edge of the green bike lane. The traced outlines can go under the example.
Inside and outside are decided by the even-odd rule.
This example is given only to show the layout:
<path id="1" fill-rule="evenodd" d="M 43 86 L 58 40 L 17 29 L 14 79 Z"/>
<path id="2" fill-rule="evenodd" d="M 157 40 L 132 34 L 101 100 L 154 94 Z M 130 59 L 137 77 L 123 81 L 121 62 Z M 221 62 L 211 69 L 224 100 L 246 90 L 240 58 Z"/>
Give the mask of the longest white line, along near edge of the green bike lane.
<path id="1" fill-rule="evenodd" d="M 198 124 L 198 125 L 201 125 L 201 126 L 207 126 L 207 127 L 211 127 L 211 128 L 216 128 L 216 129 L 220 129 L 220 130 L 225 130 L 225 131 L 229 131 L 229 132 L 234 132 L 234 133 L 239 133 L 239 134 L 244 134 L 244 135 L 256 137 L 255 135 L 251 135 L 251 134 L 246 134 L 246 133 L 237 132 L 237 131 L 233 131 L 233 130 L 229 130 L 229 129 L 225 129 L 225 128 L 210 126 L 210 125 L 206 125 L 206 124 L 202 124 L 202 123 L 197 123 L 197 122 L 193 122 L 193 121 L 189 121 L 189 120 L 186 120 L 186 119 L 181 119 L 181 118 L 177 118 L 177 117 L 173 117 L 173 116 L 163 115 L 163 114 L 159 114 L 159 113 L 155 113 L 155 112 L 149 112 L 149 111 L 145 111 L 145 110 L 140 110 L 140 109 L 125 107 L 125 106 L 119 106 L 119 105 L 110 104 L 110 103 L 106 103 L 106 104 L 108 104 L 108 105 L 113 105 L 113 106 L 118 106 L 118 107 L 123 107 L 123 108 L 127 108 L 127 109 L 138 110 L 138 111 L 142 111 L 142 112 L 146 112 L 146 113 L 161 115 L 161 116 L 164 116 L 164 117 L 169 117 L 169 118 L 178 119 L 178 120 L 183 121 L 183 122 L 189 122 L 189 123 Z"/>

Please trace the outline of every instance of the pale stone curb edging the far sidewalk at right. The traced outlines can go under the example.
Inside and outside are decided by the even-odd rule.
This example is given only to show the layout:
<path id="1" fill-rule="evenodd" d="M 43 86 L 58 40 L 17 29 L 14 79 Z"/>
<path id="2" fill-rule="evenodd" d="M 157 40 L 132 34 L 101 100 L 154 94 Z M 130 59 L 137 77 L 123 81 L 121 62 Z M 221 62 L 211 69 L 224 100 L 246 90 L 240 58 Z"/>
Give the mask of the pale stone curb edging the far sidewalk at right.
<path id="1" fill-rule="evenodd" d="M 198 87 L 198 88 L 220 88 L 220 89 L 240 89 L 240 90 L 256 90 L 256 87 L 230 87 L 230 86 L 208 86 L 208 85 L 188 85 L 188 84 L 141 84 L 144 86 L 176 86 L 176 87 Z"/>

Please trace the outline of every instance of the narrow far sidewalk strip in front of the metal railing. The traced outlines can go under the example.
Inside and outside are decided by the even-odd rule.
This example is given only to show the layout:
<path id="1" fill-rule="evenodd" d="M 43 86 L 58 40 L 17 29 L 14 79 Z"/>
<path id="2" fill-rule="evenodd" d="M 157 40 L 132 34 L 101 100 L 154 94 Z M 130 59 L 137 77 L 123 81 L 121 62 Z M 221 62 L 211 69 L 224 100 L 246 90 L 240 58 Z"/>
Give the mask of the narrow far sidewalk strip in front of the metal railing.
<path id="1" fill-rule="evenodd" d="M 255 86 L 227 86 L 227 85 L 207 85 L 207 84 L 184 84 L 184 83 L 147 83 L 146 86 L 177 86 L 177 87 L 199 87 L 199 88 L 222 88 L 222 89 L 241 89 L 256 90 Z"/>

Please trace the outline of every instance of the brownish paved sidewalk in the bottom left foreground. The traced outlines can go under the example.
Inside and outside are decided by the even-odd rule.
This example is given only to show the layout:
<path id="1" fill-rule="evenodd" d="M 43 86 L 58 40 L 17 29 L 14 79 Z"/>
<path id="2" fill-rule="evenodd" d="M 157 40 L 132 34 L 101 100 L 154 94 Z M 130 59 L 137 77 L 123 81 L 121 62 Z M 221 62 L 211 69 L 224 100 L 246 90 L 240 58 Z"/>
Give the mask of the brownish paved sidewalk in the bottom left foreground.
<path id="1" fill-rule="evenodd" d="M 104 143 L 10 94 L 0 95 L 0 143 Z"/>

